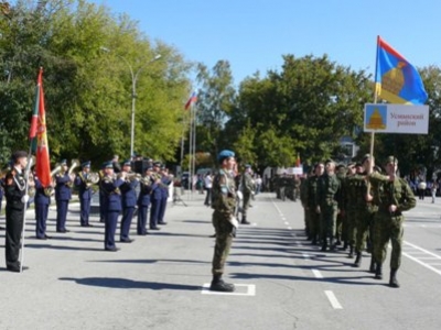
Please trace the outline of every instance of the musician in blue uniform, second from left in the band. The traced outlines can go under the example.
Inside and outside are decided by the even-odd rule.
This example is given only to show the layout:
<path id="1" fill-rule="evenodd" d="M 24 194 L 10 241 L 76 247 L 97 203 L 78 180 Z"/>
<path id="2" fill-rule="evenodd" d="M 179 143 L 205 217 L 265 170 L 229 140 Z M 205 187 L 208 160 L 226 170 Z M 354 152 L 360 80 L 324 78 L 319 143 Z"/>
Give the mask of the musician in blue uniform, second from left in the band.
<path id="1" fill-rule="evenodd" d="M 61 162 L 62 166 L 66 165 L 66 161 Z M 72 198 L 71 177 L 67 172 L 57 173 L 55 175 L 55 200 L 56 200 L 56 232 L 68 232 L 66 229 L 66 218 L 68 201 Z"/>

